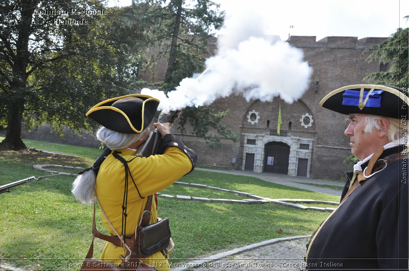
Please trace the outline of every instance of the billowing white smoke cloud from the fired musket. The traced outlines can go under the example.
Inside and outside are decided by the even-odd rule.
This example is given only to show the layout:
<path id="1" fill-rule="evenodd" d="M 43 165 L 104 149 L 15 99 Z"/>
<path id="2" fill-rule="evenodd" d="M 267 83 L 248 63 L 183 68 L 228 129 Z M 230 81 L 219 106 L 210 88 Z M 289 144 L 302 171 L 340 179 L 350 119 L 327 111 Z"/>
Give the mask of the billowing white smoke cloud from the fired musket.
<path id="1" fill-rule="evenodd" d="M 278 36 L 264 34 L 255 13 L 235 14 L 225 21 L 218 37 L 218 53 L 206 60 L 208 71 L 184 78 L 174 91 L 142 89 L 158 98 L 158 109 L 169 112 L 191 106 L 209 105 L 217 98 L 241 94 L 247 100 L 272 101 L 280 96 L 292 103 L 308 88 L 312 69 L 303 61 L 303 51 Z"/>

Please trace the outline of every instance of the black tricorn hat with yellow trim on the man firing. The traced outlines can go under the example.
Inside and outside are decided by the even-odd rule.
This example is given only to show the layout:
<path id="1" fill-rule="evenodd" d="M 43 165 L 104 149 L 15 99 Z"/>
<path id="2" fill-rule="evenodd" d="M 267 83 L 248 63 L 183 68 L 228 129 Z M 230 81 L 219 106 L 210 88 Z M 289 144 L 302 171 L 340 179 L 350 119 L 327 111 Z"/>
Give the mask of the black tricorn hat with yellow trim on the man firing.
<path id="1" fill-rule="evenodd" d="M 159 102 L 148 95 L 131 94 L 100 102 L 85 115 L 119 133 L 141 133 L 151 123 Z"/>

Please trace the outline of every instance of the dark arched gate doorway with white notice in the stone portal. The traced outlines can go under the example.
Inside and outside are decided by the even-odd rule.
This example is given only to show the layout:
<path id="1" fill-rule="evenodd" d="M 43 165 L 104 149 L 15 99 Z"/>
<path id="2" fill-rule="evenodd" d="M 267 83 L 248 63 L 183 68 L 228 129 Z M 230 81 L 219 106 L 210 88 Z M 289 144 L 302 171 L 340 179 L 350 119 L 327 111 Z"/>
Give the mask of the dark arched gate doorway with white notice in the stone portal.
<path id="1" fill-rule="evenodd" d="M 290 146 L 284 142 L 270 142 L 264 147 L 264 172 L 288 174 Z"/>

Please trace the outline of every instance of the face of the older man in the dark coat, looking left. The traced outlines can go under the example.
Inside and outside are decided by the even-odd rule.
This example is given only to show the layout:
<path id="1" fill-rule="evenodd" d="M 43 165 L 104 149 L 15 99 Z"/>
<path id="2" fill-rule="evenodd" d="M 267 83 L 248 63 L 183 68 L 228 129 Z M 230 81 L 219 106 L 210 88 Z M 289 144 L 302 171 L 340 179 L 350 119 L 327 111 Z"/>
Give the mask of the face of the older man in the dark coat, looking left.
<path id="1" fill-rule="evenodd" d="M 378 144 L 380 140 L 376 132 L 364 132 L 366 125 L 365 116 L 365 114 L 350 115 L 349 120 L 351 122 L 344 132 L 351 139 L 351 143 L 349 143 L 352 148 L 351 153 L 360 161 L 374 153 L 378 147 L 383 146 L 383 144 Z"/>

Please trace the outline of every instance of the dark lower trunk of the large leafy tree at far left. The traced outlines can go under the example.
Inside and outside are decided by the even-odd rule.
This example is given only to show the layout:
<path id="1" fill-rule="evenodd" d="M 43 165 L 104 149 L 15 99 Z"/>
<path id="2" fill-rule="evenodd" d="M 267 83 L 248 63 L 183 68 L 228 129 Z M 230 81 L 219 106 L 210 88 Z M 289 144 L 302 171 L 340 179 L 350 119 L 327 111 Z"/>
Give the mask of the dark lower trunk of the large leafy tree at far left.
<path id="1" fill-rule="evenodd" d="M 2 147 L 9 150 L 18 151 L 27 149 L 21 140 L 21 122 L 24 111 L 24 101 L 10 105 L 9 116 L 7 117 L 6 138 L 1 143 Z"/>

